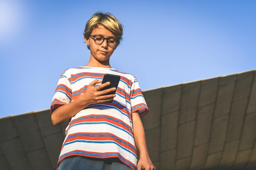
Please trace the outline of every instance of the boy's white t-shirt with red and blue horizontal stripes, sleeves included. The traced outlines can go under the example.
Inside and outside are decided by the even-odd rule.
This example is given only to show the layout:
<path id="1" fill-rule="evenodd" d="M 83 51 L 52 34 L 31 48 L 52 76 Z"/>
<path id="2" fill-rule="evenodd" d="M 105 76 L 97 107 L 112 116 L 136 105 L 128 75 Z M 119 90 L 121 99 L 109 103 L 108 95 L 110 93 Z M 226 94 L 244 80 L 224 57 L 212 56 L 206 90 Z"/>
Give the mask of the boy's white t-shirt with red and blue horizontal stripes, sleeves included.
<path id="1" fill-rule="evenodd" d="M 80 66 L 68 68 L 61 74 L 52 99 L 51 114 L 56 108 L 68 104 L 83 94 L 94 79 L 104 74 L 120 75 L 116 96 L 112 103 L 90 104 L 70 119 L 58 164 L 72 155 L 109 158 L 136 170 L 137 149 L 132 129 L 132 113 L 139 116 L 149 111 L 135 76 L 115 68 Z M 96 84 L 99 86 L 101 83 Z"/>

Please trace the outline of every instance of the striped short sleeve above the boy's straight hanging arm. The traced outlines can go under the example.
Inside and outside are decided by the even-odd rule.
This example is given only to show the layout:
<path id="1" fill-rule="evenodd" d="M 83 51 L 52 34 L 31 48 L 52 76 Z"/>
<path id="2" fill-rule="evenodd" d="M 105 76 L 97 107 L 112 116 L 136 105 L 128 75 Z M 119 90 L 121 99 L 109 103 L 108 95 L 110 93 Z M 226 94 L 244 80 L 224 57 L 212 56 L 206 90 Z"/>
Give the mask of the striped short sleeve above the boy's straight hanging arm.
<path id="1" fill-rule="evenodd" d="M 131 102 L 131 112 L 139 112 L 139 116 L 142 117 L 146 115 L 149 111 L 146 101 L 144 99 L 141 88 L 139 87 L 139 82 L 136 77 L 132 76 L 132 86 L 130 91 L 130 102 Z"/>

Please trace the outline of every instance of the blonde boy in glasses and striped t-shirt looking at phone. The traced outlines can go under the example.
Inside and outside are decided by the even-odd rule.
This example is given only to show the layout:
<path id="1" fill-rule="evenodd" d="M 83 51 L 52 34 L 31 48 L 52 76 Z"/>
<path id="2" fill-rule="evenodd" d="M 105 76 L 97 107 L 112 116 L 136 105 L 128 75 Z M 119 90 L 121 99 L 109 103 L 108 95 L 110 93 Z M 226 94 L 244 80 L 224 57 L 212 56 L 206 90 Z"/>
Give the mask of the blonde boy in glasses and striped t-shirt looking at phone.
<path id="1" fill-rule="evenodd" d="M 84 31 L 90 49 L 88 64 L 66 69 L 58 80 L 51 104 L 52 123 L 70 122 L 57 170 L 155 170 L 140 119 L 149 109 L 138 81 L 109 63 L 122 35 L 122 25 L 114 15 L 94 13 Z M 99 84 L 106 73 L 121 77 L 115 95 L 106 95 L 115 88 L 100 91 L 108 86 L 109 82 Z"/>

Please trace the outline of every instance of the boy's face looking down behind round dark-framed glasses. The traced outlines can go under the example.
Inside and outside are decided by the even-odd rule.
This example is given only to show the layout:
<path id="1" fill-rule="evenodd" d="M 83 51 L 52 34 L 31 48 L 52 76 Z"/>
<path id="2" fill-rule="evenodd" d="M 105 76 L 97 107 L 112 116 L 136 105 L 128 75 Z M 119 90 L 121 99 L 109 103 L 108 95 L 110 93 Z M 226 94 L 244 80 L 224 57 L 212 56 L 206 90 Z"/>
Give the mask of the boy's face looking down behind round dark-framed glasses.
<path id="1" fill-rule="evenodd" d="M 94 28 L 91 35 L 101 35 L 104 38 L 117 39 L 117 37 L 111 31 L 109 31 L 102 25 L 98 25 L 98 27 Z M 119 44 L 119 42 L 117 42 L 115 46 L 108 46 L 107 40 L 104 40 L 102 44 L 95 44 L 93 37 L 91 36 L 88 39 L 85 38 L 85 43 L 90 46 L 91 57 L 94 57 L 95 59 L 100 61 L 109 60 L 110 56 Z"/>

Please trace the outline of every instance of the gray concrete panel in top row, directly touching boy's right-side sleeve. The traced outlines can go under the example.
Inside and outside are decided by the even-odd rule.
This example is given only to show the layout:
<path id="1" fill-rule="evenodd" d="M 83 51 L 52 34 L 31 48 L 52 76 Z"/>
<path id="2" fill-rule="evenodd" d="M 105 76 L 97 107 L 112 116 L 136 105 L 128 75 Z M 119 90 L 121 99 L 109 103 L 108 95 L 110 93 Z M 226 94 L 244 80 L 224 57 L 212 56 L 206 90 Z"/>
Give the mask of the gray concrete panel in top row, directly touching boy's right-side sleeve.
<path id="1" fill-rule="evenodd" d="M 147 116 L 141 117 L 144 129 L 159 127 L 161 123 L 162 88 L 143 92 L 143 95 L 149 108 Z"/>

